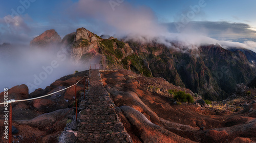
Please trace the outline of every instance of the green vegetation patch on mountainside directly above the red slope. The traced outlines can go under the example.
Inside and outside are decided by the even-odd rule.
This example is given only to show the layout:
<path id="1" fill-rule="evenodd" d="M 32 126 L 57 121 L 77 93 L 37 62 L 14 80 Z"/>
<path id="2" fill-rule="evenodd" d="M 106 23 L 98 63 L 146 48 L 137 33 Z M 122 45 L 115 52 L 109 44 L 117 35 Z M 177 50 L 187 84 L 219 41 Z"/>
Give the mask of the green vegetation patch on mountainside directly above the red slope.
<path id="1" fill-rule="evenodd" d="M 131 65 L 129 65 L 129 61 L 131 62 Z M 140 73 L 146 77 L 152 77 L 150 69 L 148 69 L 144 65 L 144 61 L 142 58 L 140 58 L 138 55 L 133 54 L 131 56 L 127 56 L 122 60 L 122 64 L 124 69 L 128 69 L 129 66 L 133 71 L 136 73 Z"/>

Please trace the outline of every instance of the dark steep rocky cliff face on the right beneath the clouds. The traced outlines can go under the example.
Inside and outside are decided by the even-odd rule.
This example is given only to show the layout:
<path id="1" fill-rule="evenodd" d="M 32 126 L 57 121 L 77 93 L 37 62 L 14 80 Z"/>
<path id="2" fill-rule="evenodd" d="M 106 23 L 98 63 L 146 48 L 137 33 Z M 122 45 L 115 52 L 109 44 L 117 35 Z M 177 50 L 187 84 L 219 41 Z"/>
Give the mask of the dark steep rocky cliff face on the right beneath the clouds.
<path id="1" fill-rule="evenodd" d="M 205 99 L 226 99 L 236 84 L 248 84 L 256 76 L 255 67 L 243 52 L 230 52 L 218 44 L 189 49 L 172 43 L 175 48 L 168 49 L 155 42 L 128 43 L 148 61 L 154 77 L 163 77 L 170 83 L 189 88 Z"/>

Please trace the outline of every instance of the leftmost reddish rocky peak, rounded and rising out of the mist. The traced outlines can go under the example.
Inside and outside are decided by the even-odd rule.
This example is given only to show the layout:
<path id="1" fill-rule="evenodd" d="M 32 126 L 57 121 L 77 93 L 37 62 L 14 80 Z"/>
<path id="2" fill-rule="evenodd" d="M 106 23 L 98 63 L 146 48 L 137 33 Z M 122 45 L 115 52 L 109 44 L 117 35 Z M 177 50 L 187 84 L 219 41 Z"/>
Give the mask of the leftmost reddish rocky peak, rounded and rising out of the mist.
<path id="1" fill-rule="evenodd" d="M 47 30 L 41 35 L 35 37 L 30 42 L 30 46 L 47 47 L 49 45 L 58 44 L 60 42 L 61 42 L 60 36 L 54 29 L 52 29 L 52 30 Z"/>

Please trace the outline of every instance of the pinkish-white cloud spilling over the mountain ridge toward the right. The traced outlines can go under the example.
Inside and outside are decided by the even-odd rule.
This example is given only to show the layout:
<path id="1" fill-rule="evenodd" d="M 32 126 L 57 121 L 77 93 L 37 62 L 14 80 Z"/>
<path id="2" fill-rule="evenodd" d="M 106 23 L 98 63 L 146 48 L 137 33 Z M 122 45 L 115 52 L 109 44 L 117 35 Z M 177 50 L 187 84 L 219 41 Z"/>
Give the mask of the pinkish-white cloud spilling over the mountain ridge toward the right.
<path id="1" fill-rule="evenodd" d="M 150 8 L 132 6 L 125 1 L 80 0 L 70 6 L 67 15 L 73 19 L 84 18 L 92 25 L 97 25 L 93 31 L 112 34 L 119 39 L 125 37 L 125 40 L 139 42 L 155 40 L 170 48 L 173 47 L 170 43 L 173 41 L 180 41 L 188 48 L 218 43 L 224 49 L 244 48 L 256 52 L 256 42 L 247 40 L 249 37 L 238 42 L 246 35 L 256 36 L 256 32 L 244 23 L 190 21 L 181 32 L 177 32 L 174 26 L 160 23 Z"/>

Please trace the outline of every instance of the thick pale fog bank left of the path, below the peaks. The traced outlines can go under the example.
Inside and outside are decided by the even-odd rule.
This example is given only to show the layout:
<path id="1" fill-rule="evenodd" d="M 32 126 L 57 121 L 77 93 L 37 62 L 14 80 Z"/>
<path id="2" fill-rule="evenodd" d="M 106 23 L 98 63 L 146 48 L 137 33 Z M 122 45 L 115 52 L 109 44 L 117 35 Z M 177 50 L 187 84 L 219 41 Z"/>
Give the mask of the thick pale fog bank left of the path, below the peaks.
<path id="1" fill-rule="evenodd" d="M 75 70 L 89 68 L 72 62 L 65 51 L 54 48 L 32 49 L 26 45 L 12 45 L 1 52 L 0 91 L 21 84 L 26 84 L 29 92 L 37 88 L 45 89 L 55 80 L 73 74 Z"/>

